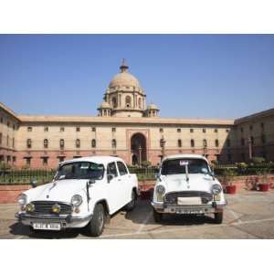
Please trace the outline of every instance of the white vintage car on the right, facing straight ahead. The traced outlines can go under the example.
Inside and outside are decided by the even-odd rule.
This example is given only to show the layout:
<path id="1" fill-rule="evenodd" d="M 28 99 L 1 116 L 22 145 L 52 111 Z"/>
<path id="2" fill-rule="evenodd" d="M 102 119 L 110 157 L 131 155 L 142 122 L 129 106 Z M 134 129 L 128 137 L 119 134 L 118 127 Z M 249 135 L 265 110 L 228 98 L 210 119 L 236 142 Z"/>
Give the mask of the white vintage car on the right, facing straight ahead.
<path id="1" fill-rule="evenodd" d="M 227 201 L 204 156 L 178 154 L 163 158 L 152 205 L 155 222 L 163 214 L 213 214 L 221 224 Z"/>

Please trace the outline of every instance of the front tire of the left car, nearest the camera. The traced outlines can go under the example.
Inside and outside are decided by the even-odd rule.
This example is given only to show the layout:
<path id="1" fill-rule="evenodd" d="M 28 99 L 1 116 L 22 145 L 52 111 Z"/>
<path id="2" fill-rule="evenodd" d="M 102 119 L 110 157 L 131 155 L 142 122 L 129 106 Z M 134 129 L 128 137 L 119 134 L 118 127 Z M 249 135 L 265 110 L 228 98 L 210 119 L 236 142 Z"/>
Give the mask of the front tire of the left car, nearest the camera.
<path id="1" fill-rule="evenodd" d="M 101 204 L 97 204 L 94 207 L 93 210 L 93 216 L 90 220 L 90 223 L 88 225 L 90 236 L 92 237 L 99 237 L 105 227 L 105 221 L 106 221 L 106 213 L 104 206 Z"/>

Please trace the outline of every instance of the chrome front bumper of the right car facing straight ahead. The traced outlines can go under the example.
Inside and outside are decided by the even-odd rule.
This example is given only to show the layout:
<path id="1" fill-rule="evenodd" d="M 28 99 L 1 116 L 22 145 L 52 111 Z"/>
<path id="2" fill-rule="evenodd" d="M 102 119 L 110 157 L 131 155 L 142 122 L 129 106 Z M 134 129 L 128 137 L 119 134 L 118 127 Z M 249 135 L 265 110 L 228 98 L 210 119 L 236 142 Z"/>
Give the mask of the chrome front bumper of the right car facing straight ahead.
<path id="1" fill-rule="evenodd" d="M 211 214 L 223 210 L 227 201 L 213 202 L 210 205 L 166 205 L 163 203 L 152 202 L 153 208 L 159 213 L 169 214 Z"/>

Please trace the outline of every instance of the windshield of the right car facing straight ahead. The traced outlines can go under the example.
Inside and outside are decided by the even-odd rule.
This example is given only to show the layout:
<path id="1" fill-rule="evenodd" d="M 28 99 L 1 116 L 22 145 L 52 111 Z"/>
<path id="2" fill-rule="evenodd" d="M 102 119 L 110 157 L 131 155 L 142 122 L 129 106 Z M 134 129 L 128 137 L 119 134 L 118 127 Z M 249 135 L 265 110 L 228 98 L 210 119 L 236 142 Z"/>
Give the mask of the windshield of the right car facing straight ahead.
<path id="1" fill-rule="evenodd" d="M 161 174 L 185 174 L 185 165 L 188 165 L 189 174 L 209 173 L 208 164 L 203 159 L 172 159 L 162 164 Z"/>

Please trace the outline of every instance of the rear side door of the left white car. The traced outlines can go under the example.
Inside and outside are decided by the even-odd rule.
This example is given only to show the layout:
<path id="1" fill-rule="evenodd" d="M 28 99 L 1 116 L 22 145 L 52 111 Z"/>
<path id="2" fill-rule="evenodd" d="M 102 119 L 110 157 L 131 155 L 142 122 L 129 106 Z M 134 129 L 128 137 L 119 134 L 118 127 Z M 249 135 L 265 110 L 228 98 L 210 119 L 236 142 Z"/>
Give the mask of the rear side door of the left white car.
<path id="1" fill-rule="evenodd" d="M 123 195 L 123 205 L 126 205 L 132 199 L 132 178 L 124 163 L 118 161 L 117 167 L 121 177 L 121 193 Z"/>

